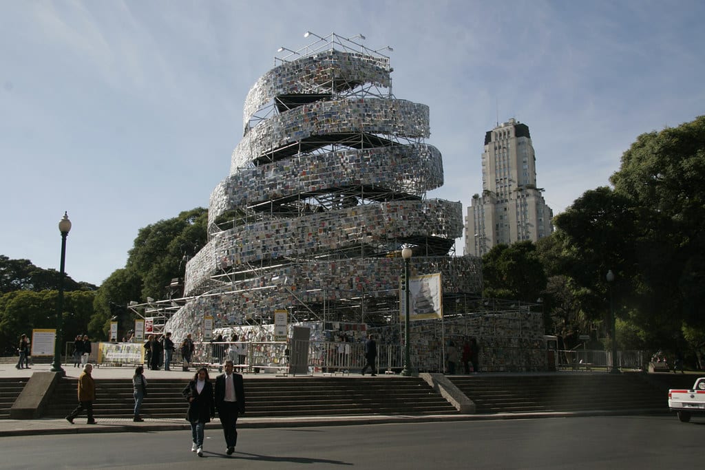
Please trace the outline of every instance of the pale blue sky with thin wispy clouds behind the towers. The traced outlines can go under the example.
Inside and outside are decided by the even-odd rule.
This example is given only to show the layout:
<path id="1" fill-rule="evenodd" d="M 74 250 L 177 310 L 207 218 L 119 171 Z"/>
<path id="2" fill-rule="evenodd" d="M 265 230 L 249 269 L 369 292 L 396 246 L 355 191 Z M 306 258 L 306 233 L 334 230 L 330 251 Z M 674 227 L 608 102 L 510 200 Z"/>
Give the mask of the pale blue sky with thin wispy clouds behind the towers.
<path id="1" fill-rule="evenodd" d="M 431 109 L 446 184 L 481 192 L 484 133 L 529 125 L 554 214 L 637 135 L 705 113 L 696 1 L 0 0 L 0 254 L 99 285 L 137 230 L 207 207 L 243 101 L 307 30 L 391 45 L 393 93 Z M 462 254 L 462 240 L 457 243 Z"/>

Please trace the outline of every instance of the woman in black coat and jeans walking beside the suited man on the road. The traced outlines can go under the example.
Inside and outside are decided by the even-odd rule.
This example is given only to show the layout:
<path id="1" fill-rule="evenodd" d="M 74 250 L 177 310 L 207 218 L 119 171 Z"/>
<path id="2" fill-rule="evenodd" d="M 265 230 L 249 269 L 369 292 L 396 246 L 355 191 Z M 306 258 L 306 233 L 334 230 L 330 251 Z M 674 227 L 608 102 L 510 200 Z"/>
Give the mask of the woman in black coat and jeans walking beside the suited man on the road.
<path id="1" fill-rule="evenodd" d="M 216 416 L 213 400 L 213 385 L 209 382 L 208 369 L 202 367 L 186 385 L 181 394 L 188 400 L 186 419 L 191 423 L 191 436 L 193 443 L 191 452 L 196 452 L 198 457 L 203 455 L 203 429 L 211 418 Z"/>

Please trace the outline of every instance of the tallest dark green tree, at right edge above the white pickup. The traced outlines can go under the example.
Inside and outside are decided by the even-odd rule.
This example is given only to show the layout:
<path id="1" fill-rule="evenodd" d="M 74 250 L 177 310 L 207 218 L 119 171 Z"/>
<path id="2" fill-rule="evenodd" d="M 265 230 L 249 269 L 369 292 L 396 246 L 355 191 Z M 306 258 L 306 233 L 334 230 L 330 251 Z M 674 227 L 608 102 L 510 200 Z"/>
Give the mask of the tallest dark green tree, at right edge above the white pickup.
<path id="1" fill-rule="evenodd" d="M 639 207 L 633 321 L 662 347 L 675 347 L 678 326 L 697 338 L 705 331 L 705 116 L 637 137 L 611 183 Z"/>

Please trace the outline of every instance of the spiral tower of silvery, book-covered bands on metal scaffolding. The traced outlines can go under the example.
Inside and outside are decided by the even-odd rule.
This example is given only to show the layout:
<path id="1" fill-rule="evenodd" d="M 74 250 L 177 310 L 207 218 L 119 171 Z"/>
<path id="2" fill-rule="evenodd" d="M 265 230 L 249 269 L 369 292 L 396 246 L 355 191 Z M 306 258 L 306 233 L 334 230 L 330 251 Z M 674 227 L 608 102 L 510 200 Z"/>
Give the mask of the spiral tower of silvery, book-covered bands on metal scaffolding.
<path id="1" fill-rule="evenodd" d="M 312 33 L 309 33 L 312 34 Z M 400 251 L 441 273 L 443 296 L 479 294 L 479 259 L 453 256 L 462 205 L 443 185 L 429 108 L 391 92 L 389 57 L 335 33 L 283 58 L 245 100 L 243 138 L 187 264 L 173 330 L 271 321 L 398 322 Z M 391 50 L 385 48 L 384 51 Z M 175 319 L 176 320 L 176 319 Z"/>

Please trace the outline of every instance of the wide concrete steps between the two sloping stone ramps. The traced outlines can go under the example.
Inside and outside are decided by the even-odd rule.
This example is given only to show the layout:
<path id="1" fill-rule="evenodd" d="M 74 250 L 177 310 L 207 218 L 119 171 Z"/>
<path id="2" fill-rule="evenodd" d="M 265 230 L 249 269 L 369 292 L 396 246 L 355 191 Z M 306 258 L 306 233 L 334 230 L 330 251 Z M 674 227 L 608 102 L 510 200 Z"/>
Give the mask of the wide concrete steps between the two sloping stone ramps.
<path id="1" fill-rule="evenodd" d="M 141 414 L 185 418 L 181 390 L 186 380 L 149 380 Z M 336 416 L 369 414 L 454 414 L 458 411 L 427 383 L 415 377 L 246 378 L 247 416 Z M 77 404 L 76 379 L 62 378 L 44 417 L 66 416 Z M 132 381 L 97 381 L 96 416 L 131 418 Z"/>

